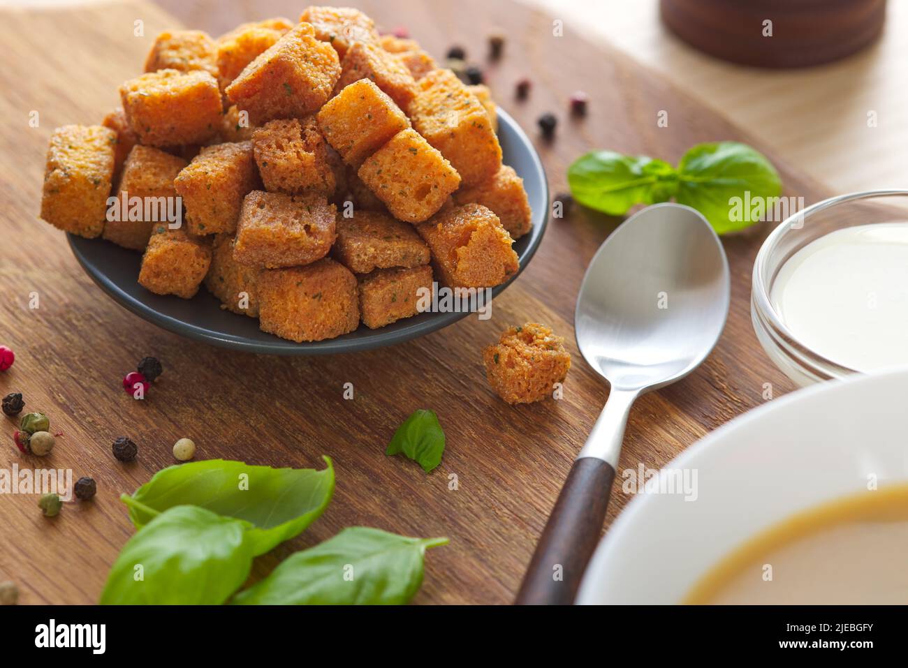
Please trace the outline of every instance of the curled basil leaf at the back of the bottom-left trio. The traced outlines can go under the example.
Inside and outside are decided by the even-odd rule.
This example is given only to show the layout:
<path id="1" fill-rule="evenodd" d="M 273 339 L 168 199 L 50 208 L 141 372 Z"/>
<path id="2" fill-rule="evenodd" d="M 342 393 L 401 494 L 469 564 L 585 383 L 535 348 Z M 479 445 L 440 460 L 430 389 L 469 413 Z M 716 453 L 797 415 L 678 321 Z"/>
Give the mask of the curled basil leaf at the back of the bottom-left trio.
<path id="1" fill-rule="evenodd" d="M 158 471 L 133 496 L 123 496 L 136 528 L 173 506 L 201 506 L 253 525 L 255 555 L 299 535 L 324 512 L 334 493 L 334 467 L 271 468 L 208 459 Z"/>

